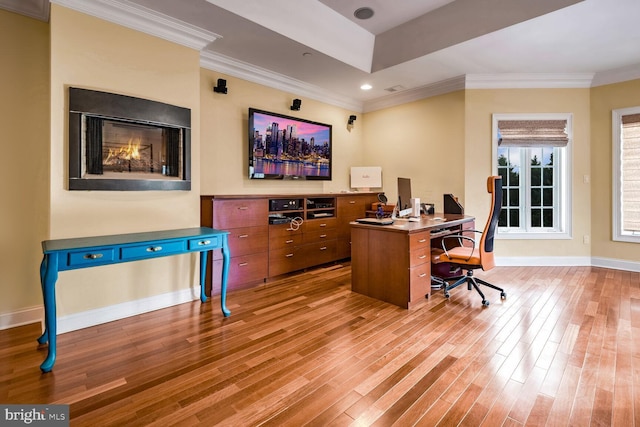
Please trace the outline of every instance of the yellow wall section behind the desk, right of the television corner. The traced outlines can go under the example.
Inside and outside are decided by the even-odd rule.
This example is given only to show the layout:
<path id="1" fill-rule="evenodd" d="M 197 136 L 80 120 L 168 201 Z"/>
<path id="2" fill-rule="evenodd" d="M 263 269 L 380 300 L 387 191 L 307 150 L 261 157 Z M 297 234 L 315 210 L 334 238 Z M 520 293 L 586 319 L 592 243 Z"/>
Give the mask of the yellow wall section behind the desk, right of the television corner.
<path id="1" fill-rule="evenodd" d="M 410 178 L 412 196 L 436 210 L 444 193 L 464 203 L 464 104 L 458 91 L 365 115 L 363 160 L 382 166 L 389 203 L 397 198 L 398 177 Z"/>

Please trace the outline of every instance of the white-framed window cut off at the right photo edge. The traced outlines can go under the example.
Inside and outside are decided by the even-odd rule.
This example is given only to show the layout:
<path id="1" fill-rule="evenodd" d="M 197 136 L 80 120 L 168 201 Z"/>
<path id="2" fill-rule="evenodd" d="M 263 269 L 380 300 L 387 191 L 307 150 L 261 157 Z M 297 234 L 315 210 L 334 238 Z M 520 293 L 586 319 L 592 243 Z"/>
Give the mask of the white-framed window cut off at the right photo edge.
<path id="1" fill-rule="evenodd" d="M 613 111 L 613 240 L 640 243 L 640 107 Z"/>

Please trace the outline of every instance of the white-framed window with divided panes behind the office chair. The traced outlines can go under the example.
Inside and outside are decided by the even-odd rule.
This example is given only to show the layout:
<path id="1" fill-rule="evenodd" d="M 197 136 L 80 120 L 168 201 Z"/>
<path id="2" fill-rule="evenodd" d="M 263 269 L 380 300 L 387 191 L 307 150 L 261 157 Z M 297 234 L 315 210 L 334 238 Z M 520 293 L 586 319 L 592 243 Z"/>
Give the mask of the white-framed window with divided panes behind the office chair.
<path id="1" fill-rule="evenodd" d="M 493 169 L 502 176 L 499 237 L 571 238 L 571 118 L 493 115 Z"/>

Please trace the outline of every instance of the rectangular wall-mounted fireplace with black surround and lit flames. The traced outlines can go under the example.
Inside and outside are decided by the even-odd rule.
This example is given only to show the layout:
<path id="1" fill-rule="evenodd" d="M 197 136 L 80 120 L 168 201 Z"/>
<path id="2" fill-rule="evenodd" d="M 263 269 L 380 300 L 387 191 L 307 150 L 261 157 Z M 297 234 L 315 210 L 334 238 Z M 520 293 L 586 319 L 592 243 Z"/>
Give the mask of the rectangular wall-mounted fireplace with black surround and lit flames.
<path id="1" fill-rule="evenodd" d="M 70 190 L 190 190 L 191 111 L 69 88 Z"/>

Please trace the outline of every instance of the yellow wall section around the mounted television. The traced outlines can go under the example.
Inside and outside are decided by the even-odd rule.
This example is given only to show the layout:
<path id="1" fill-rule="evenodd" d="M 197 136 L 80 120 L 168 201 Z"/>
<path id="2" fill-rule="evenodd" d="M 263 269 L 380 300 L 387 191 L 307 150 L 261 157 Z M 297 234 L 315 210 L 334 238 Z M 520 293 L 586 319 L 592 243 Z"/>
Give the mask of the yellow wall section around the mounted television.
<path id="1" fill-rule="evenodd" d="M 218 78 L 227 80 L 226 95 L 214 93 Z M 349 189 L 349 168 L 363 160 L 361 134 L 364 119 L 347 129 L 354 112 L 312 99 L 291 111 L 297 95 L 271 89 L 211 70 L 200 73 L 202 103 L 202 194 L 328 193 Z M 273 181 L 248 178 L 249 107 L 333 125 L 331 181 Z"/>

